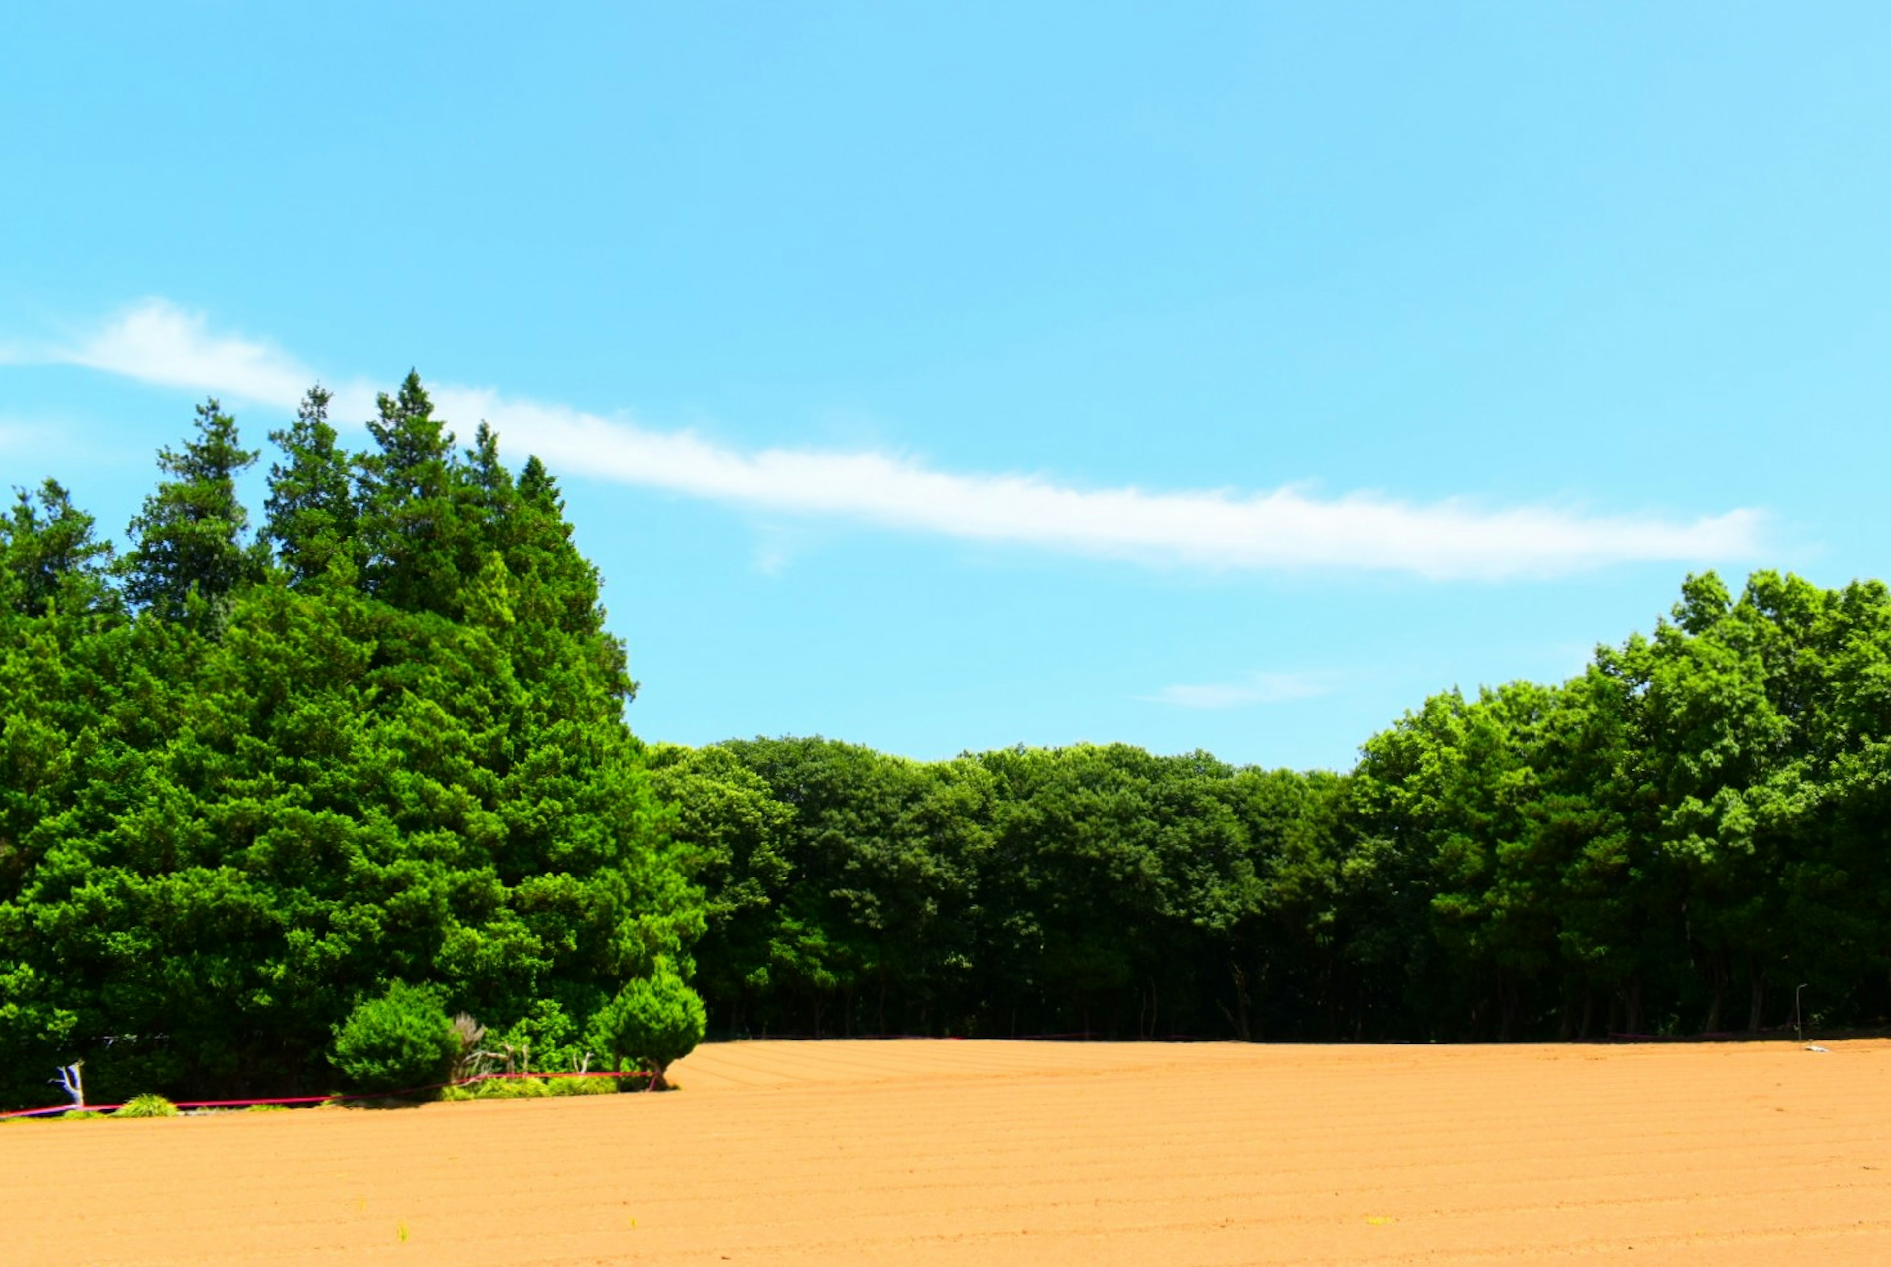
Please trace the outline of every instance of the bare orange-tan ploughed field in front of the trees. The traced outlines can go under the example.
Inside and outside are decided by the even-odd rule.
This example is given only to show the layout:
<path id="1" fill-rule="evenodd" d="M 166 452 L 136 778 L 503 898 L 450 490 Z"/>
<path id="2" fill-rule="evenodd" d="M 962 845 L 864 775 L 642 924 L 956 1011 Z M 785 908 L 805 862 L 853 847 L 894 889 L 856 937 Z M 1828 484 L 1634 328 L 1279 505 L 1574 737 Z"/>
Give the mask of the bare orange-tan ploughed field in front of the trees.
<path id="1" fill-rule="evenodd" d="M 0 1263 L 1891 1263 L 1891 1044 L 751 1042 L 0 1127 Z"/>

